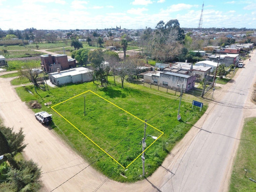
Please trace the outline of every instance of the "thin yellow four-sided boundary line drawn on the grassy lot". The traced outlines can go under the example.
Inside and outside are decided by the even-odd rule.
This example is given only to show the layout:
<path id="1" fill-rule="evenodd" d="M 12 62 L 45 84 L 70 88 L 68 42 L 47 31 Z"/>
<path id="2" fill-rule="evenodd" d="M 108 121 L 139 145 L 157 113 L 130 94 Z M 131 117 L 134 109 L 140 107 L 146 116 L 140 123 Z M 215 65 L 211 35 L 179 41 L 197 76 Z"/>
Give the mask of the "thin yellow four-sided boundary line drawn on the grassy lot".
<path id="1" fill-rule="evenodd" d="M 63 103 L 63 102 L 66 102 L 66 101 L 68 101 L 68 100 L 71 100 L 71 99 L 73 99 L 73 98 L 75 98 L 75 97 L 78 97 L 78 96 L 80 96 L 80 95 L 82 95 L 82 94 L 84 94 L 84 93 L 87 93 L 87 92 L 91 92 L 91 93 L 93 93 L 94 95 L 97 95 L 98 97 L 104 99 L 105 101 L 108 101 L 109 103 L 113 104 L 114 106 L 116 106 L 116 107 L 119 108 L 120 110 L 124 111 L 125 113 L 127 113 L 127 114 L 129 114 L 129 115 L 132 115 L 133 117 L 135 117 L 136 119 L 142 121 L 143 123 L 146 123 L 146 122 L 143 121 L 143 120 L 141 120 L 140 118 L 136 117 L 135 115 L 133 115 L 133 114 L 131 114 L 131 113 L 125 111 L 124 109 L 120 108 L 119 106 L 117 106 L 116 104 L 112 103 L 111 101 L 109 101 L 109 100 L 107 100 L 107 99 L 101 97 L 100 95 L 94 93 L 94 92 L 91 91 L 91 90 L 85 91 L 85 92 L 80 93 L 80 94 L 78 94 L 78 95 L 76 95 L 76 96 L 74 96 L 74 97 L 71 97 L 71 98 L 69 98 L 69 99 L 67 99 L 67 100 L 65 100 L 65 101 L 62 101 L 62 102 L 60 102 L 60 103 L 58 103 L 58 104 L 55 104 L 55 105 L 51 106 L 52 110 L 54 110 L 57 114 L 59 114 L 60 117 L 62 117 L 63 119 L 65 119 L 67 122 L 69 122 L 73 127 L 75 127 L 76 130 L 78 130 L 78 131 L 79 131 L 82 135 L 84 135 L 87 139 L 89 139 L 90 141 L 92 141 L 97 147 L 100 148 L 101 151 L 103 151 L 106 155 L 108 155 L 109 157 L 111 157 L 111 158 L 112 158 L 116 163 L 118 163 L 121 167 L 123 167 L 123 168 L 129 167 L 136 159 L 138 159 L 151 145 L 153 145 L 153 143 L 155 143 L 155 142 L 164 134 L 164 132 L 158 130 L 156 127 L 154 127 L 154 126 L 152 126 L 152 125 L 146 123 L 147 125 L 153 127 L 155 130 L 159 131 L 159 132 L 161 133 L 161 135 L 160 135 L 155 141 L 153 141 L 153 143 L 151 143 L 148 147 L 146 147 L 146 149 L 145 149 L 143 152 L 141 152 L 141 154 L 138 155 L 138 157 L 136 157 L 129 165 L 127 165 L 126 167 L 124 167 L 124 166 L 121 165 L 117 160 L 115 160 L 115 158 L 113 158 L 110 154 L 108 154 L 108 152 L 104 151 L 97 143 L 95 143 L 92 139 L 90 139 L 86 134 L 82 133 L 82 132 L 81 132 L 75 125 L 73 125 L 68 119 L 66 119 L 66 118 L 63 117 L 59 112 L 57 112 L 55 109 L 53 109 L 54 106 L 57 106 L 57 105 L 59 105 L 59 104 L 61 104 L 61 103 Z"/>

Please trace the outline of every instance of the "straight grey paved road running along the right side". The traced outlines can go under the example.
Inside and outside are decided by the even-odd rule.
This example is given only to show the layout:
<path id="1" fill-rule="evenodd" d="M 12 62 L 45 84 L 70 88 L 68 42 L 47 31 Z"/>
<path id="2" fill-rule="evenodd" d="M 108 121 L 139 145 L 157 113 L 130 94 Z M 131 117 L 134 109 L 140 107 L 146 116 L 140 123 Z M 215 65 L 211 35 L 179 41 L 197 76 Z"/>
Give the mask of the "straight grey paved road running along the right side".
<path id="1" fill-rule="evenodd" d="M 228 83 L 221 99 L 214 98 L 214 112 L 203 123 L 202 130 L 189 145 L 185 155 L 173 167 L 175 175 L 160 188 L 161 191 L 223 191 L 228 179 L 228 168 L 234 145 L 240 138 L 243 109 L 253 110 L 255 105 L 245 104 L 250 95 L 256 72 L 256 56 L 252 53 L 236 80 Z M 166 179 L 163 180 L 163 182 Z"/>

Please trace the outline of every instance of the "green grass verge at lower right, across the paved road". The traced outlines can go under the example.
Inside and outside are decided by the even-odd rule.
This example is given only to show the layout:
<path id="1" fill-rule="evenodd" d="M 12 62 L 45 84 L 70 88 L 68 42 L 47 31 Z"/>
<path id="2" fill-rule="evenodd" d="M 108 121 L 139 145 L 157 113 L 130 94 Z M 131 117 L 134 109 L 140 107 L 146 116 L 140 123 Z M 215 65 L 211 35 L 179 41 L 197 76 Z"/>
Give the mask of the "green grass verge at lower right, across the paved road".
<path id="1" fill-rule="evenodd" d="M 256 180 L 256 118 L 245 120 L 238 154 L 234 161 L 229 192 L 244 191 L 254 192 L 256 183 L 249 178 Z M 248 172 L 245 176 L 245 170 Z"/>

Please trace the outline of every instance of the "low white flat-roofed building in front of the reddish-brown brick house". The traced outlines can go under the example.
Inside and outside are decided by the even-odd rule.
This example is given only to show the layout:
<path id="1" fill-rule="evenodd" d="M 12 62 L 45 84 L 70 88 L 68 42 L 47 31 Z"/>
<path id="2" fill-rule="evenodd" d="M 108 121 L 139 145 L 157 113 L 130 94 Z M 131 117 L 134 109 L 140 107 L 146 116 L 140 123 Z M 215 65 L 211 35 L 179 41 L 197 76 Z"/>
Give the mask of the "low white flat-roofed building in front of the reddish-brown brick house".
<path id="1" fill-rule="evenodd" d="M 88 82 L 92 78 L 92 70 L 79 67 L 66 71 L 60 71 L 55 73 L 49 73 L 49 79 L 51 83 L 56 86 L 62 86 L 67 83 L 77 83 L 77 82 Z"/>

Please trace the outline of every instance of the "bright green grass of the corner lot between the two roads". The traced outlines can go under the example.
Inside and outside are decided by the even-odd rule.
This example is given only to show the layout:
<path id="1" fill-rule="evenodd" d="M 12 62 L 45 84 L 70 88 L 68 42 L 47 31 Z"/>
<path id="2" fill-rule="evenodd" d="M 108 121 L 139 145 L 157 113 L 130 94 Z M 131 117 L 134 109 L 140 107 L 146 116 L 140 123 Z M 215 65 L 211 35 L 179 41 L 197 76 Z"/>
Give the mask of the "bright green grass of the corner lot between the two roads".
<path id="1" fill-rule="evenodd" d="M 113 83 L 111 77 L 110 80 Z M 146 177 L 148 177 L 155 172 L 174 145 L 183 138 L 191 125 L 205 112 L 207 104 L 204 105 L 202 112 L 199 112 L 197 108 L 191 109 L 190 98 L 188 102 L 182 101 L 180 111 L 182 121 L 179 122 L 177 121 L 178 96 L 159 92 L 138 84 L 126 82 L 124 86 L 125 88 L 121 89 L 118 83 L 116 87 L 100 88 L 95 86 L 93 82 L 88 82 L 51 89 L 49 92 L 38 90 L 38 94 L 34 93 L 33 86 L 19 87 L 16 90 L 23 101 L 38 100 L 40 103 L 51 101 L 52 105 L 84 91 L 92 90 L 138 118 L 147 119 L 149 124 L 164 132 L 163 136 L 145 152 L 145 170 Z M 33 92 L 34 95 L 28 93 L 27 89 Z M 186 96 L 184 96 L 184 99 L 186 99 Z M 141 153 L 141 138 L 144 133 L 143 122 L 92 94 L 86 95 L 86 100 L 86 117 L 83 116 L 83 95 L 56 107 L 62 115 L 73 122 L 82 132 L 88 134 L 91 139 L 95 140 L 99 146 L 102 146 L 121 164 L 127 165 L 132 162 Z M 92 166 L 104 175 L 121 182 L 133 182 L 142 179 L 140 177 L 142 174 L 140 158 L 124 172 L 120 165 L 50 108 L 42 104 L 42 109 L 34 111 L 52 113 L 54 124 L 52 123 L 51 126 L 54 131 L 89 163 L 93 163 Z M 160 135 L 150 126 L 147 127 L 146 134 Z M 147 146 L 152 142 L 153 139 L 148 137 L 146 140 Z M 120 176 L 120 174 L 125 175 L 127 179 Z"/>

